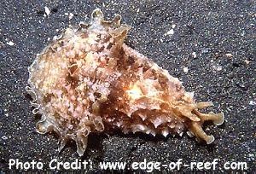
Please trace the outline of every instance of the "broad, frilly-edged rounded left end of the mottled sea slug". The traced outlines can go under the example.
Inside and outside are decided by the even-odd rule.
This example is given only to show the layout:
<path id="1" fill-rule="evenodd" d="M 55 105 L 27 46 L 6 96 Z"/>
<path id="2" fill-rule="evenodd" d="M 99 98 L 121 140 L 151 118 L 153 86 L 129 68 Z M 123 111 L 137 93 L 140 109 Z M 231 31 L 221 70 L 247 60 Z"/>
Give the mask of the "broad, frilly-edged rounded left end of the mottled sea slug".
<path id="1" fill-rule="evenodd" d="M 116 49 L 123 44 L 130 26 L 120 23 L 116 15 L 104 20 L 95 9 L 89 24 L 67 28 L 49 44 L 28 68 L 33 113 L 42 114 L 37 131 L 55 131 L 60 135 L 60 150 L 68 139 L 77 143 L 84 154 L 91 131 L 103 131 L 99 105 L 105 102 L 115 71 Z"/>

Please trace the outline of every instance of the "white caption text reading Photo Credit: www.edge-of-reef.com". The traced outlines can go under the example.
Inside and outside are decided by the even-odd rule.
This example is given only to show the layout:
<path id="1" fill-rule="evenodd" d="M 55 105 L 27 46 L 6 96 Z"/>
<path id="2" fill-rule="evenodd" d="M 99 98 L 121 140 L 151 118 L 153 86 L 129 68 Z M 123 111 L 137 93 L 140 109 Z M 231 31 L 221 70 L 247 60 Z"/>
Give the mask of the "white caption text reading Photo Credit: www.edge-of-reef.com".
<path id="1" fill-rule="evenodd" d="M 46 165 L 46 166 L 45 166 Z M 61 161 L 60 159 L 51 159 L 49 164 L 44 164 L 42 161 L 20 161 L 20 159 L 9 159 L 9 170 L 44 170 L 45 167 L 49 170 L 90 170 L 94 164 L 89 160 L 75 159 L 74 161 Z M 147 172 L 161 171 L 183 171 L 184 168 L 189 168 L 190 171 L 247 171 L 247 162 L 241 161 L 225 161 L 220 162 L 219 159 L 212 161 L 191 161 L 183 162 L 183 159 L 177 161 L 163 163 L 159 161 L 148 161 L 143 159 L 140 162 L 132 162 L 128 165 L 121 161 L 103 161 L 99 163 L 99 168 L 102 170 L 124 171 L 124 170 L 143 170 Z"/>

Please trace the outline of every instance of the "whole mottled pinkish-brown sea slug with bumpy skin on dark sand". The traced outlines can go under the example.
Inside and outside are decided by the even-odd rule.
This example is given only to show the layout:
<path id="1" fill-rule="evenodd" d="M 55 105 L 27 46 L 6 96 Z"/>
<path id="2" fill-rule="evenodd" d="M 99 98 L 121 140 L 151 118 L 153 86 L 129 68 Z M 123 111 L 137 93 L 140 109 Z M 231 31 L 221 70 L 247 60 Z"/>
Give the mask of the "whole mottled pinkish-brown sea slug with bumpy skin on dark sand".
<path id="1" fill-rule="evenodd" d="M 68 139 L 84 154 L 90 132 L 177 133 L 184 129 L 207 143 L 205 120 L 220 125 L 223 113 L 200 113 L 212 102 L 195 103 L 193 93 L 147 57 L 124 44 L 130 26 L 120 16 L 106 21 L 94 10 L 90 24 L 68 28 L 29 67 L 27 91 L 33 113 L 41 113 L 39 133 L 56 131 L 60 147 Z"/>

